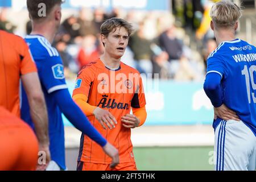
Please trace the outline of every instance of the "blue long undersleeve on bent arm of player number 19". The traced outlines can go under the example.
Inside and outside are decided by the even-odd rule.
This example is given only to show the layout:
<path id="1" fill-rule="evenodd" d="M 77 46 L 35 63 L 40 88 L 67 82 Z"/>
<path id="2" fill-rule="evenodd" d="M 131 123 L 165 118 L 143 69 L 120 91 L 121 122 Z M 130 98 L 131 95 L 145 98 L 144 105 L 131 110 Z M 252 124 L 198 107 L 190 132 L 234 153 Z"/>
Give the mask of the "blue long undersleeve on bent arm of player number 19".
<path id="1" fill-rule="evenodd" d="M 218 73 L 207 74 L 204 81 L 204 91 L 214 107 L 222 105 L 221 76 Z"/>

